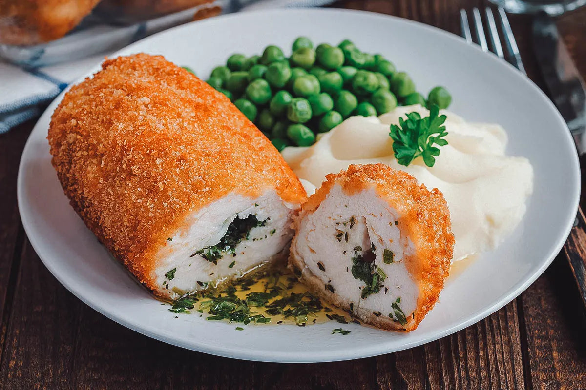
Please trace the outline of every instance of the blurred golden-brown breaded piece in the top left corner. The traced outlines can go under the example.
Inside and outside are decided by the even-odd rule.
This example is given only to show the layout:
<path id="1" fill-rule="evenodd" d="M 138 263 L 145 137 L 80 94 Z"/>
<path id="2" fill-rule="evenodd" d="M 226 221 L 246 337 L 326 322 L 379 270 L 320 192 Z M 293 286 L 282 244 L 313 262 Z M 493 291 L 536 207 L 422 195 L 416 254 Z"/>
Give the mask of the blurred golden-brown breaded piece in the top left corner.
<path id="1" fill-rule="evenodd" d="M 60 38 L 100 0 L 2 0 L 0 43 L 29 45 Z"/>

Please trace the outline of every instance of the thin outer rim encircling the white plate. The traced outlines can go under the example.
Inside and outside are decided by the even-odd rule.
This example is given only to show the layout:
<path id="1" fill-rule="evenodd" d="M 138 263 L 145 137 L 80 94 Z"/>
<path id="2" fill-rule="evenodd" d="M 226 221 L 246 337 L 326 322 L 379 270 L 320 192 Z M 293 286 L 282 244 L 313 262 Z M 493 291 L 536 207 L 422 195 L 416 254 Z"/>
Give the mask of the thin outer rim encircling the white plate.
<path id="1" fill-rule="evenodd" d="M 370 12 L 370 11 L 352 10 L 352 9 L 338 9 L 338 8 L 298 8 L 298 9 L 291 9 L 291 8 L 282 9 L 281 8 L 281 9 L 267 9 L 267 10 L 237 12 L 237 13 L 231 13 L 231 14 L 227 14 L 227 15 L 220 15 L 220 16 L 216 16 L 216 17 L 210 18 L 210 19 L 185 23 L 184 25 L 172 27 L 171 29 L 167 29 L 162 32 L 145 37 L 144 39 L 141 39 L 137 42 L 134 42 L 128 46 L 123 47 L 120 50 L 115 51 L 115 53 L 110 55 L 111 56 L 110 58 L 124 55 L 123 53 L 126 53 L 126 52 L 132 50 L 135 46 L 139 46 L 140 44 L 143 44 L 145 41 L 147 41 L 149 39 L 153 39 L 153 37 L 161 36 L 163 34 L 173 34 L 173 33 L 175 33 L 176 30 L 192 28 L 193 23 L 199 23 L 198 25 L 205 26 L 206 24 L 212 24 L 212 23 L 224 23 L 224 20 L 230 20 L 233 18 L 243 18 L 243 17 L 246 17 L 247 15 L 250 15 L 250 14 L 276 13 L 276 14 L 279 14 L 279 16 L 281 16 L 281 17 L 287 17 L 286 15 L 285 16 L 282 16 L 282 15 L 287 14 L 287 13 L 299 13 L 299 12 L 304 12 L 304 13 L 311 12 L 311 13 L 323 13 L 323 14 L 350 13 L 350 14 L 356 14 L 356 15 L 360 15 L 360 16 L 366 15 L 371 18 L 380 18 L 380 19 L 386 19 L 386 20 L 390 19 L 390 20 L 393 20 L 393 23 L 405 23 L 407 25 L 413 25 L 415 28 L 427 30 L 428 33 L 440 34 L 440 35 L 446 37 L 447 39 L 456 40 L 456 41 L 460 42 L 461 44 L 466 44 L 466 46 L 470 47 L 470 49 L 468 49 L 468 50 L 477 50 L 479 52 L 479 55 L 485 56 L 486 60 L 498 61 L 498 63 L 500 63 L 501 65 L 506 65 L 507 67 L 509 67 L 510 70 L 513 70 L 516 73 L 518 72 L 518 70 L 515 67 L 513 67 L 513 65 L 507 63 L 506 61 L 501 60 L 495 54 L 486 53 L 485 51 L 482 51 L 482 49 L 480 47 L 476 47 L 476 45 L 471 45 L 471 44 L 466 43 L 464 38 L 459 37 L 456 34 L 453 34 L 451 32 L 447 32 L 445 30 L 442 30 L 438 27 L 426 25 L 425 23 L 417 22 L 415 20 L 410 20 L 410 19 L 404 19 L 404 18 L 400 18 L 398 16 L 393 16 L 393 15 L 386 15 L 386 14 L 377 13 L 377 12 Z M 563 248 L 565 241 L 567 240 L 567 237 L 569 236 L 571 229 L 573 227 L 573 220 L 574 219 L 568 217 L 568 220 L 566 223 L 566 228 L 563 230 L 563 232 L 561 232 L 562 234 L 560 235 L 560 237 L 565 237 L 565 238 L 559 239 L 557 241 L 557 243 L 551 247 L 550 252 L 543 256 L 544 261 L 541 264 L 541 266 L 539 268 L 537 268 L 537 270 L 534 271 L 532 275 L 530 275 L 528 278 L 524 279 L 524 281 L 513 285 L 513 287 L 510 288 L 506 294 L 503 294 L 503 295 L 499 296 L 498 298 L 496 298 L 492 305 L 489 305 L 487 308 L 477 310 L 476 312 L 472 313 L 472 315 L 469 316 L 469 318 L 467 320 L 460 322 L 457 325 L 451 326 L 448 329 L 444 329 L 441 332 L 435 332 L 434 334 L 431 334 L 430 336 L 425 337 L 424 339 L 418 339 L 418 340 L 414 340 L 414 341 L 411 341 L 406 344 L 401 344 L 400 347 L 387 348 L 387 349 L 380 348 L 380 347 L 379 348 L 370 347 L 370 348 L 362 348 L 362 349 L 353 348 L 352 350 L 349 350 L 348 353 L 346 353 L 346 355 L 343 355 L 342 357 L 340 357 L 339 353 L 336 353 L 336 355 L 333 355 L 333 354 L 328 354 L 327 351 L 322 351 L 321 353 L 312 353 L 311 356 L 309 356 L 309 357 L 304 357 L 304 356 L 299 356 L 299 355 L 291 355 L 291 353 L 287 353 L 286 351 L 278 351 L 278 352 L 272 352 L 270 357 L 266 357 L 266 356 L 264 356 L 263 351 L 258 351 L 258 350 L 255 352 L 254 350 L 244 349 L 244 348 L 236 348 L 235 349 L 235 348 L 226 348 L 226 347 L 220 347 L 220 346 L 209 347 L 205 343 L 203 343 L 203 344 L 202 343 L 186 344 L 186 343 L 182 342 L 182 340 L 180 340 L 179 337 L 166 336 L 165 334 L 152 332 L 148 326 L 141 325 L 141 323 L 132 322 L 131 320 L 127 320 L 127 319 L 125 319 L 125 317 L 122 317 L 122 316 L 114 315 L 114 313 L 108 311 L 107 308 L 101 306 L 98 302 L 99 300 L 96 300 L 96 299 L 92 300 L 92 299 L 84 296 L 83 292 L 79 292 L 76 289 L 74 289 L 73 287 L 71 287 L 71 285 L 66 281 L 66 279 L 63 278 L 59 274 L 59 272 L 54 270 L 54 268 L 51 265 L 52 263 L 50 261 L 43 260 L 44 250 L 40 246 L 38 238 L 36 236 L 29 235 L 29 232 L 32 231 L 32 228 L 30 227 L 30 225 L 32 225 L 33 222 L 32 222 L 32 220 L 29 219 L 30 216 L 27 214 L 26 209 L 23 209 L 23 207 L 24 207 L 23 203 L 26 203 L 26 202 L 24 201 L 25 198 L 23 198 L 23 192 L 22 192 L 23 185 L 24 185 L 24 183 L 23 183 L 23 180 L 24 180 L 23 176 L 24 175 L 22 174 L 22 172 L 23 172 L 23 165 L 25 164 L 25 159 L 23 157 L 25 156 L 26 151 L 31 147 L 30 144 L 31 144 L 32 134 L 35 133 L 36 131 L 39 131 L 39 130 L 37 130 L 37 127 L 39 127 L 39 128 L 41 127 L 40 120 L 43 117 L 45 117 L 46 115 L 49 115 L 49 118 L 50 118 L 52 111 L 49 112 L 49 110 L 53 109 L 53 106 L 56 104 L 56 102 L 59 102 L 62 100 L 63 95 L 70 89 L 70 87 L 74 84 L 79 83 L 81 80 L 84 80 L 84 78 L 95 73 L 96 70 L 98 70 L 100 68 L 100 65 L 101 65 L 101 62 L 96 64 L 94 67 L 91 67 L 88 71 L 86 71 L 86 73 L 84 73 L 83 76 L 72 81 L 71 84 L 69 85 L 69 87 L 67 87 L 66 89 L 64 89 L 64 91 L 62 91 L 59 95 L 57 95 L 56 98 L 53 99 L 53 101 L 49 104 L 47 109 L 45 109 L 45 111 L 39 117 L 37 123 L 33 127 L 33 130 L 29 134 L 29 137 L 26 141 L 25 147 L 22 151 L 21 160 L 19 162 L 19 168 L 18 168 L 18 178 L 17 178 L 17 188 L 16 188 L 17 189 L 18 209 L 19 209 L 19 213 L 21 216 L 21 221 L 22 221 L 23 227 L 25 229 L 26 235 L 28 237 L 28 240 L 29 240 L 31 246 L 35 250 L 36 254 L 38 254 L 40 260 L 45 265 L 47 270 L 49 270 L 49 272 L 53 275 L 53 277 L 55 277 L 57 279 L 57 281 L 60 282 L 60 284 L 62 284 L 68 291 L 70 291 L 71 294 L 76 296 L 78 299 L 80 299 L 82 302 L 86 303 L 86 305 L 90 306 L 92 309 L 96 310 L 101 315 L 104 315 L 105 317 L 108 317 L 109 319 L 114 320 L 115 322 L 119 323 L 120 325 L 134 330 L 135 332 L 138 332 L 138 333 L 144 334 L 145 336 L 151 337 L 152 339 L 159 340 L 164 343 L 172 344 L 174 346 L 186 348 L 189 350 L 194 350 L 194 351 L 207 353 L 207 354 L 213 354 L 215 356 L 237 358 L 237 359 L 241 359 L 241 360 L 273 362 L 273 363 L 319 363 L 319 362 L 327 362 L 327 361 L 354 360 L 357 358 L 379 356 L 381 354 L 387 354 L 387 353 L 393 353 L 396 351 L 406 350 L 408 348 L 420 346 L 422 344 L 441 339 L 442 337 L 448 336 L 449 334 L 458 332 L 459 330 L 462 330 L 465 327 L 471 326 L 474 323 L 479 322 L 482 319 L 485 319 L 486 317 L 492 315 L 493 313 L 495 313 L 499 309 L 503 308 L 505 305 L 507 305 L 509 302 L 511 302 L 517 296 L 522 294 L 522 292 L 524 292 L 530 285 L 533 284 L 534 281 L 536 281 L 537 278 L 539 278 L 541 276 L 541 274 L 543 274 L 543 272 L 551 264 L 551 262 L 557 256 L 557 254 L 560 253 L 560 251 Z M 547 97 L 547 95 L 544 94 L 544 92 L 541 91 L 541 89 L 539 87 L 537 87 L 537 85 L 532 80 L 530 80 L 527 77 L 524 77 L 521 73 L 518 73 L 518 75 L 516 77 L 521 77 L 521 78 L 523 78 L 524 82 L 529 83 L 529 86 L 530 86 L 530 88 L 533 89 L 533 92 L 536 93 L 537 95 L 539 95 L 541 100 L 543 100 L 551 109 L 553 109 L 553 114 L 554 114 L 554 116 L 556 116 L 557 122 L 560 123 L 561 127 L 564 127 L 564 129 L 567 130 L 567 132 L 565 132 L 564 139 L 566 140 L 567 143 L 570 142 L 571 146 L 572 146 L 571 150 L 573 150 L 573 156 L 571 156 L 571 158 L 570 158 L 570 160 L 572 161 L 571 171 L 573 172 L 573 177 L 575 179 L 574 181 L 577 183 L 575 185 L 576 188 L 575 188 L 575 191 L 573 194 L 574 202 L 572 205 L 570 205 L 571 207 L 568 208 L 571 210 L 571 213 L 568 213 L 568 215 L 570 215 L 570 216 L 575 215 L 578 211 L 578 206 L 579 206 L 579 201 L 580 201 L 581 176 L 580 176 L 580 165 L 578 162 L 579 161 L 578 154 L 577 154 L 577 151 L 575 150 L 575 147 L 573 146 L 573 139 L 571 138 L 570 130 L 568 129 L 567 124 L 565 123 L 565 121 L 561 117 L 561 114 L 558 112 L 557 108 L 554 106 L 553 102 L 550 101 L 550 99 Z M 49 256 L 47 256 L 47 257 L 49 257 Z"/>

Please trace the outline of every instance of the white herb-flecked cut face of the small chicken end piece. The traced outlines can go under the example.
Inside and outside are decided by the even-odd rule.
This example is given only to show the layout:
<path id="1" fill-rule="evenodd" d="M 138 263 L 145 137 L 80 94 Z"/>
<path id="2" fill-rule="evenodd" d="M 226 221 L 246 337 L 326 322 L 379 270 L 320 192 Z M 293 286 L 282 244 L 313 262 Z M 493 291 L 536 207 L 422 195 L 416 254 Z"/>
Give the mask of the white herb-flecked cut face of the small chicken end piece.
<path id="1" fill-rule="evenodd" d="M 400 215 L 374 188 L 348 195 L 335 184 L 301 219 L 292 252 L 339 306 L 362 319 L 386 316 L 404 325 L 420 288 L 406 265 L 414 244 L 400 227 Z"/>

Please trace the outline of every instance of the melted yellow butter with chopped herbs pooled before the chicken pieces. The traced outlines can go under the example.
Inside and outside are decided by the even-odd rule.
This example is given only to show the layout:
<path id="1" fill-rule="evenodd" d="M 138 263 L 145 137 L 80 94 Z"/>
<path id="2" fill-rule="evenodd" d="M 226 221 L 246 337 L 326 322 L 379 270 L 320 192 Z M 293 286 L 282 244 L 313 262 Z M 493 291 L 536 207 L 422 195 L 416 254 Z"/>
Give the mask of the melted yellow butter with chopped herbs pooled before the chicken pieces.
<path id="1" fill-rule="evenodd" d="M 229 287 L 224 287 L 217 289 L 212 292 L 207 292 L 205 294 L 195 295 L 198 302 L 195 303 L 195 308 L 190 309 L 187 312 L 193 314 L 203 314 L 204 317 L 212 316 L 209 313 L 209 309 L 206 308 L 206 303 L 209 302 L 212 297 L 217 296 L 226 296 L 228 295 L 228 291 L 230 288 L 236 289 L 233 292 L 237 298 L 241 299 L 242 301 L 246 301 L 247 297 L 252 293 L 267 293 L 271 291 L 275 291 L 274 287 L 278 288 L 278 295 L 274 296 L 274 298 L 270 298 L 268 303 L 265 306 L 251 306 L 251 315 L 263 315 L 270 319 L 268 323 L 254 323 L 250 322 L 246 324 L 247 326 L 250 325 L 258 325 L 258 326 L 265 326 L 265 325 L 296 325 L 296 326 L 308 326 L 313 325 L 314 323 L 326 323 L 332 322 L 332 325 L 335 324 L 335 327 L 343 326 L 345 323 L 350 322 L 357 322 L 357 320 L 353 319 L 349 313 L 345 312 L 342 309 L 336 308 L 322 299 L 312 295 L 305 285 L 301 284 L 297 280 L 297 278 L 293 274 L 289 274 L 288 272 L 283 273 L 282 270 L 280 271 L 266 271 L 266 272 L 259 272 L 255 275 L 251 275 L 249 278 L 241 279 L 239 281 L 234 282 Z M 294 316 L 285 316 L 281 313 L 275 313 L 274 310 L 271 312 L 270 308 L 266 306 L 270 306 L 271 303 L 278 301 L 282 298 L 288 298 L 292 294 L 302 294 L 304 298 L 302 299 L 303 302 L 309 302 L 312 300 L 316 300 L 319 302 L 319 306 L 321 309 L 318 310 L 311 310 L 307 315 L 307 320 Z M 315 301 L 314 301 L 315 302 Z M 200 307 L 201 306 L 201 307 Z M 295 306 L 287 305 L 283 306 L 285 310 L 292 309 Z M 228 322 L 229 320 L 223 320 Z M 342 322 L 345 321 L 345 322 Z M 244 326 L 242 323 L 232 322 L 234 325 L 237 326 Z"/>

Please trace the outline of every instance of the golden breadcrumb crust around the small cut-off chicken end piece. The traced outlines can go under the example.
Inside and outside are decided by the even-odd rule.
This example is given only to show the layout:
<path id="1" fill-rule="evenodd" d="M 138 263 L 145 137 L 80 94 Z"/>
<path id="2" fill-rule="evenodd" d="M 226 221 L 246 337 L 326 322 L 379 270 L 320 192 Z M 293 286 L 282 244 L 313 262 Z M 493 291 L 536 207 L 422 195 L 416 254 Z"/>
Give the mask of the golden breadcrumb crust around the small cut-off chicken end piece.
<path id="1" fill-rule="evenodd" d="M 385 164 L 350 165 L 346 171 L 326 175 L 322 186 L 302 206 L 294 223 L 296 230 L 301 219 L 319 207 L 335 184 L 340 185 L 348 195 L 374 187 L 377 194 L 397 210 L 401 216 L 398 227 L 403 234 L 407 234 L 415 246 L 415 255 L 406 258 L 407 270 L 414 275 L 420 285 L 415 318 L 409 317 L 407 325 L 401 325 L 386 316 L 377 317 L 354 306 L 355 314 L 364 322 L 382 329 L 407 332 L 414 330 L 438 301 L 444 288 L 444 279 L 449 275 L 455 240 L 444 195 L 437 188 L 429 191 L 407 172 L 394 170 Z M 304 267 L 304 261 L 295 249 L 297 239 L 296 234 L 291 244 L 289 267 L 294 271 L 295 268 L 302 270 L 300 279 L 312 292 L 336 306 L 349 310 L 349 302 L 343 302 L 328 291 L 323 283 Z"/>

